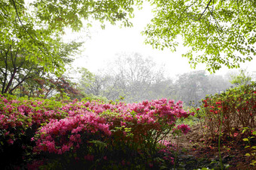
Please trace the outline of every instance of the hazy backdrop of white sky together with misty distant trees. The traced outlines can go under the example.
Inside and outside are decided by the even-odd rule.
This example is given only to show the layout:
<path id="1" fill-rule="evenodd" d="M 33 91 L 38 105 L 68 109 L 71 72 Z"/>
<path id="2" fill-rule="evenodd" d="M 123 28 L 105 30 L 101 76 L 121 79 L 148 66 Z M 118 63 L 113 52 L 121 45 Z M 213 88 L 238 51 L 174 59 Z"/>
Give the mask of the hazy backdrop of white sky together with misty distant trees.
<path id="1" fill-rule="evenodd" d="M 141 31 L 153 17 L 151 9 L 145 3 L 142 10 L 135 10 L 132 28 L 107 24 L 102 29 L 99 23 L 93 22 L 93 27 L 66 35 L 66 40 L 85 41 L 81 54 L 72 64 L 73 69 L 82 67 L 80 74 L 72 75 L 75 77 L 72 81 L 85 96 L 127 103 L 164 97 L 182 100 L 189 106 L 191 101 L 200 104 L 198 101 L 207 94 L 241 85 L 231 83 L 241 70 L 244 78 L 255 80 L 256 60 L 241 63 L 239 69 L 223 67 L 210 74 L 204 64 L 197 64 L 196 70 L 190 68 L 188 59 L 181 57 L 187 52 L 182 40 L 176 52 L 145 45 Z M 246 81 L 242 83 L 249 82 Z"/>

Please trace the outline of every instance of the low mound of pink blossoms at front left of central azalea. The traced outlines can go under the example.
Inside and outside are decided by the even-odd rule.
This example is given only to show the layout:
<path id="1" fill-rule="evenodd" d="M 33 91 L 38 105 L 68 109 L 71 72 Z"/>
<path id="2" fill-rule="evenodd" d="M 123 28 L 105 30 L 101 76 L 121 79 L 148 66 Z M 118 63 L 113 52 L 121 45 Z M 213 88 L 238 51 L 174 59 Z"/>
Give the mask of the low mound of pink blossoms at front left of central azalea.
<path id="1" fill-rule="evenodd" d="M 103 118 L 92 112 L 81 110 L 79 115 L 52 120 L 38 130 L 35 152 L 48 151 L 49 153 L 63 154 L 70 148 L 78 149 L 82 144 L 81 137 L 88 133 L 102 132 L 110 136 L 109 125 Z"/>

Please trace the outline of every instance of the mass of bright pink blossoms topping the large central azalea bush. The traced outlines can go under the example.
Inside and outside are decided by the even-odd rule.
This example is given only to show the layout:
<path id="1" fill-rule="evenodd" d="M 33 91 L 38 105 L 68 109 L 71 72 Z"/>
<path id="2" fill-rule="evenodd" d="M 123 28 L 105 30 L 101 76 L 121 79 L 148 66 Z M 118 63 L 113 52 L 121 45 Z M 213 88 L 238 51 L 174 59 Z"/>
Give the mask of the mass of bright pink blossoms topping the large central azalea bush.
<path id="1" fill-rule="evenodd" d="M 97 101 L 69 103 L 62 110 L 68 112 L 69 116 L 59 121 L 52 120 L 38 130 L 35 151 L 62 154 L 81 145 L 83 134 L 101 131 L 105 136 L 111 136 L 110 130 L 114 130 L 112 135 L 119 136 L 121 140 L 127 140 L 127 133 L 133 134 L 131 140 L 139 142 L 153 130 L 161 133 L 173 127 L 177 118 L 190 115 L 182 109 L 180 101 L 174 103 L 166 99 L 128 104 L 102 104 Z M 117 130 L 117 127 L 120 128 Z M 123 138 L 120 138 L 120 130 Z M 183 127 L 181 131 L 187 133 Z"/>

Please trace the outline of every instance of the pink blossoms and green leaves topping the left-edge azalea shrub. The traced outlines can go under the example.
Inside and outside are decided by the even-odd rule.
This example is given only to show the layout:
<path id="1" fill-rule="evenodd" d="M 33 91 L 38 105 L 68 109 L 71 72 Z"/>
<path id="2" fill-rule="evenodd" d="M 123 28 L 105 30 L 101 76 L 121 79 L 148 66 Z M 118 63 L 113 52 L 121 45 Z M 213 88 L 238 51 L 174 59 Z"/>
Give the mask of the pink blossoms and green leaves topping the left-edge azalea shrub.
<path id="1" fill-rule="evenodd" d="M 52 100 L 1 97 L 0 130 L 5 135 L 4 139 L 13 144 L 32 125 L 40 127 L 50 120 L 65 118 L 67 114 L 58 106 L 60 103 Z"/>

